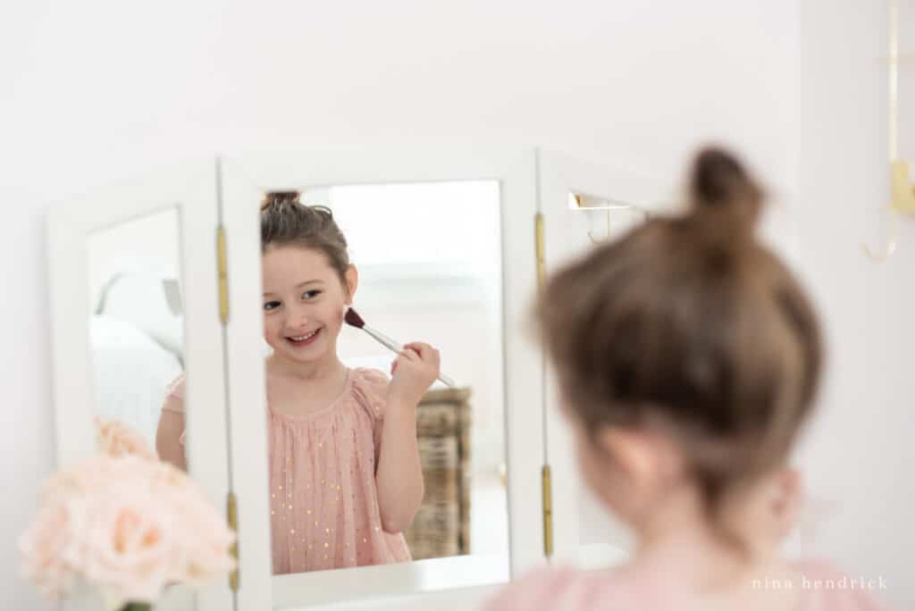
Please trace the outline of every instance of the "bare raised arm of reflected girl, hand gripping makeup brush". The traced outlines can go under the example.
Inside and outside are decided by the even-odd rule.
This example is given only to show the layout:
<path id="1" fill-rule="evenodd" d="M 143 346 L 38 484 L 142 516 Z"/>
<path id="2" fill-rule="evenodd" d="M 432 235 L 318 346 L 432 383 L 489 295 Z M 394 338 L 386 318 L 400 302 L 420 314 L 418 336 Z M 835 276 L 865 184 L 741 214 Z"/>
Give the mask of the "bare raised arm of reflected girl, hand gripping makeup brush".
<path id="1" fill-rule="evenodd" d="M 403 532 L 423 502 L 423 467 L 416 441 L 416 404 L 438 376 L 438 350 L 414 342 L 392 365 L 375 484 L 382 529 Z"/>

